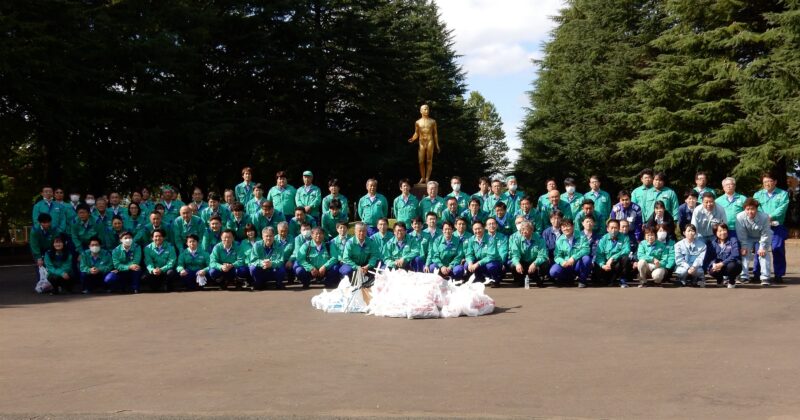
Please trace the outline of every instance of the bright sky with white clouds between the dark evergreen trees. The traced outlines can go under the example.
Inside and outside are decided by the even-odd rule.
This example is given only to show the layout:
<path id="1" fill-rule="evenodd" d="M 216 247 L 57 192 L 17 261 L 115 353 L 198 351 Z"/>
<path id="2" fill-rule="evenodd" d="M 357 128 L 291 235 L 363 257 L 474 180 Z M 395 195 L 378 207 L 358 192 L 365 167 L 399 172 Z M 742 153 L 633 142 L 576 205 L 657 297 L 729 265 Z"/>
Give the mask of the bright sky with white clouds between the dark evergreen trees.
<path id="1" fill-rule="evenodd" d="M 564 2 L 436 0 L 436 4 L 442 20 L 453 30 L 467 88 L 497 107 L 514 162 L 515 149 L 520 147 L 517 132 L 530 106 L 527 92 L 536 78 L 531 60 L 541 58 L 542 43 L 555 27 L 550 17 L 558 14 Z"/>

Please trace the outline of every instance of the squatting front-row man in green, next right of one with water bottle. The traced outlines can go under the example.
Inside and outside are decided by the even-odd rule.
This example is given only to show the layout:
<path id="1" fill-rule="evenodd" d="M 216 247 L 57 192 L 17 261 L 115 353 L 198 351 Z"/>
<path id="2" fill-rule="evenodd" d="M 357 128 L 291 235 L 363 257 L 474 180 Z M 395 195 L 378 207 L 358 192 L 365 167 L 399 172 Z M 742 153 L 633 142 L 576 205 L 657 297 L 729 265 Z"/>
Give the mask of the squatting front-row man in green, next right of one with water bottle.
<path id="1" fill-rule="evenodd" d="M 561 221 L 561 236 L 556 240 L 554 264 L 550 267 L 550 278 L 558 285 L 571 284 L 578 278 L 578 287 L 586 287 L 591 266 L 583 264 L 589 255 L 589 242 L 584 235 L 575 235 L 575 225 L 570 219 Z"/>

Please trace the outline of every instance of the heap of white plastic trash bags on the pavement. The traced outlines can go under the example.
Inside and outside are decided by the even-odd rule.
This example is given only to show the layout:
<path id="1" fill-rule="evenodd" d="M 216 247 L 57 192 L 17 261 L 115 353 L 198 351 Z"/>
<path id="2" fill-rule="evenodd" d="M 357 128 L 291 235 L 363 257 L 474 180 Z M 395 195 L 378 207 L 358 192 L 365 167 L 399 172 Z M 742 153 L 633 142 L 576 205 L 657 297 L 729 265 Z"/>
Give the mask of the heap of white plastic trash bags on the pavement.
<path id="1" fill-rule="evenodd" d="M 334 290 L 323 290 L 311 304 L 333 313 L 366 313 L 392 318 L 455 318 L 494 312 L 485 285 L 445 280 L 436 274 L 377 270 L 371 287 L 358 278 L 343 278 Z"/>

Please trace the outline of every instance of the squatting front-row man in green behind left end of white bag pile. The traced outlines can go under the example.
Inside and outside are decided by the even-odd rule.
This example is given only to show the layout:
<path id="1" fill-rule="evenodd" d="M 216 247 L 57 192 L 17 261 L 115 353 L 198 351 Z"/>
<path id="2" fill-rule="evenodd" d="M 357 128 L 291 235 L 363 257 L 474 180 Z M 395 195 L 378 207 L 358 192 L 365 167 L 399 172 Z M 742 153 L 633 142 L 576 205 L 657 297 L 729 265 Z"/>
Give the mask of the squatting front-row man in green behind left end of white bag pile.
<path id="1" fill-rule="evenodd" d="M 328 244 L 325 243 L 325 232 L 320 227 L 311 229 L 311 240 L 297 252 L 295 276 L 303 284 L 303 289 L 311 286 L 312 279 L 323 282 L 325 287 L 334 287 L 339 279 L 335 266 L 336 258 L 331 257 Z"/>

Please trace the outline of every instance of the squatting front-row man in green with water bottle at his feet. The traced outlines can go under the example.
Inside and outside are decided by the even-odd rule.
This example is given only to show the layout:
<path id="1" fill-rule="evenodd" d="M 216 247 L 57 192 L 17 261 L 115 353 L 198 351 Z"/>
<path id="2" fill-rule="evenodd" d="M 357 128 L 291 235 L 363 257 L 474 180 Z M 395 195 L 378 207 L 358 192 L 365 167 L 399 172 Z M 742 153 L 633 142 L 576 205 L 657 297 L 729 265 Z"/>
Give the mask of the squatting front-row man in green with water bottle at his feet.
<path id="1" fill-rule="evenodd" d="M 528 277 L 538 287 L 544 287 L 542 276 L 550 260 L 547 258 L 544 239 L 533 231 L 533 224 L 526 220 L 520 224 L 519 235 L 511 236 L 509 248 L 512 273 L 516 283 L 522 283 Z"/>

